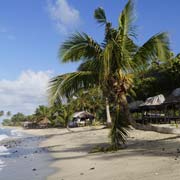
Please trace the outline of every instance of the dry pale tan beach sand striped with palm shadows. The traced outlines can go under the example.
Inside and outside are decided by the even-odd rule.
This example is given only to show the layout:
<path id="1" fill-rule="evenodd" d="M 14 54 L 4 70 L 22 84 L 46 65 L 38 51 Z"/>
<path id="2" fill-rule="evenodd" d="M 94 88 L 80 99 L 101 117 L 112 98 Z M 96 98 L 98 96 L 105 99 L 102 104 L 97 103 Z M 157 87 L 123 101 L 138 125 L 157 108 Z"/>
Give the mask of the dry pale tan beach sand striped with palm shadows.
<path id="1" fill-rule="evenodd" d="M 49 135 L 41 147 L 48 147 L 55 174 L 48 180 L 179 180 L 180 136 L 132 130 L 127 148 L 114 153 L 88 152 L 108 143 L 108 129 L 74 128 L 27 130 Z"/>

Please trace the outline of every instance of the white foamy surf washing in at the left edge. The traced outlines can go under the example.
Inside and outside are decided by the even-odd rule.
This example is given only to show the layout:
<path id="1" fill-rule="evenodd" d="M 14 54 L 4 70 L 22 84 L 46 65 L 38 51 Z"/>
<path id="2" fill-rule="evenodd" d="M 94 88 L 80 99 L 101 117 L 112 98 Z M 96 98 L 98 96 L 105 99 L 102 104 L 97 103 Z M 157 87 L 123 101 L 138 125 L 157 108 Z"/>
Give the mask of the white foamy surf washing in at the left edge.
<path id="1" fill-rule="evenodd" d="M 0 127 L 0 171 L 2 170 L 3 167 L 6 166 L 5 162 L 2 161 L 1 157 L 10 154 L 8 149 L 5 146 L 1 145 L 1 141 L 7 138 L 17 138 L 21 136 L 22 136 L 21 132 L 19 132 L 16 129 L 6 129 Z"/>

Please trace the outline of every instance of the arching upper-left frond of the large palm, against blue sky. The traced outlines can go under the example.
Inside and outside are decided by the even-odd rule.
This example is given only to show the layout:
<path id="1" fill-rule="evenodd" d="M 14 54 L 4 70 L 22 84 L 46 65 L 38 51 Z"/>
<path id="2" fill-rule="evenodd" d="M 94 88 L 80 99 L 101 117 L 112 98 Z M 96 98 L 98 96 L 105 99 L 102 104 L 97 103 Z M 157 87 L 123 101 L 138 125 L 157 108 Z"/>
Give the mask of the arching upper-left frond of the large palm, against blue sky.
<path id="1" fill-rule="evenodd" d="M 74 33 L 60 47 L 59 58 L 62 62 L 79 61 L 96 57 L 101 46 L 86 33 Z"/>

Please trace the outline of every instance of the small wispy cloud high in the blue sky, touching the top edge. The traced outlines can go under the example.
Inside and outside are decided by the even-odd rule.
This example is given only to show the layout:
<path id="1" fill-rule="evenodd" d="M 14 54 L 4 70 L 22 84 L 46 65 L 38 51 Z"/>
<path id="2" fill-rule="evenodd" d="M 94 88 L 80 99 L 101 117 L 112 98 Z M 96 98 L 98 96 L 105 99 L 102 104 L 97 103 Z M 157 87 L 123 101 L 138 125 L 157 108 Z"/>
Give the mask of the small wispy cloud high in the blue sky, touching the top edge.
<path id="1" fill-rule="evenodd" d="M 61 33 L 68 33 L 80 23 L 79 11 L 69 5 L 67 0 L 48 0 L 48 11 Z"/>

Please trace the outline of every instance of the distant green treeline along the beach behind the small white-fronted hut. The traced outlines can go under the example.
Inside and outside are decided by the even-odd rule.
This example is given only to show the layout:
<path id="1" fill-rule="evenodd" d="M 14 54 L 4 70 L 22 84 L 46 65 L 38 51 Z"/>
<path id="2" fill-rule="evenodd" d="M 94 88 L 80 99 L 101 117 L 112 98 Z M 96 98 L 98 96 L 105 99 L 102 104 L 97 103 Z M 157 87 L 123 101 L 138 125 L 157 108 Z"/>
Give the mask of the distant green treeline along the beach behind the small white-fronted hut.
<path id="1" fill-rule="evenodd" d="M 40 105 L 31 115 L 17 113 L 11 118 L 3 120 L 4 126 L 23 126 L 24 122 L 38 124 L 42 120 L 48 121 L 49 127 L 67 127 L 72 120 L 72 115 L 79 111 L 88 111 L 95 116 L 96 124 L 104 124 L 106 121 L 105 105 L 102 93 L 99 89 L 90 91 L 79 91 L 62 103 L 61 99 L 56 99 L 53 105 Z"/>

